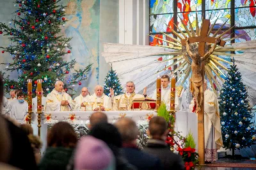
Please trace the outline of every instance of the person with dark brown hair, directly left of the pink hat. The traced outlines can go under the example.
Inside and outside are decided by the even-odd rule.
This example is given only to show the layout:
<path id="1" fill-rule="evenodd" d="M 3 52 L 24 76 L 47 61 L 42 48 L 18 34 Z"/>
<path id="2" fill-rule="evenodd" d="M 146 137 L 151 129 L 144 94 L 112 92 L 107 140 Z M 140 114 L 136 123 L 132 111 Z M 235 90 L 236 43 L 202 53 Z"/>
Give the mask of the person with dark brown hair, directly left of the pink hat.
<path id="1" fill-rule="evenodd" d="M 47 148 L 39 163 L 40 170 L 66 169 L 77 144 L 77 134 L 67 122 L 52 126 L 47 135 Z"/>

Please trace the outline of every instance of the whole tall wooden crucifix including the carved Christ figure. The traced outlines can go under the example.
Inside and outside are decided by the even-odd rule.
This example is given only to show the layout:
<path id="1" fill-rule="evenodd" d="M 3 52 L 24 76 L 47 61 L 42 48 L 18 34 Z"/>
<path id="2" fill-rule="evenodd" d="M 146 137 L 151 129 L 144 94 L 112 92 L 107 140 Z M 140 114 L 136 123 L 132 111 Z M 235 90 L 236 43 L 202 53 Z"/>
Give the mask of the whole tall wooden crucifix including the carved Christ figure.
<path id="1" fill-rule="evenodd" d="M 200 36 L 193 36 L 181 40 L 181 44 L 186 45 L 186 51 L 192 58 L 192 78 L 190 80 L 190 89 L 196 98 L 196 111 L 198 113 L 198 154 L 199 164 L 205 164 L 205 144 L 204 144 L 204 77 L 205 77 L 205 61 L 212 54 L 216 45 L 224 47 L 225 41 L 219 38 L 208 36 L 210 20 L 204 19 L 201 27 Z M 198 52 L 191 52 L 189 43 L 198 42 Z M 206 45 L 207 43 L 207 45 Z M 214 43 L 211 49 L 208 49 L 208 44 Z M 203 134 L 203 135 L 202 135 Z"/>

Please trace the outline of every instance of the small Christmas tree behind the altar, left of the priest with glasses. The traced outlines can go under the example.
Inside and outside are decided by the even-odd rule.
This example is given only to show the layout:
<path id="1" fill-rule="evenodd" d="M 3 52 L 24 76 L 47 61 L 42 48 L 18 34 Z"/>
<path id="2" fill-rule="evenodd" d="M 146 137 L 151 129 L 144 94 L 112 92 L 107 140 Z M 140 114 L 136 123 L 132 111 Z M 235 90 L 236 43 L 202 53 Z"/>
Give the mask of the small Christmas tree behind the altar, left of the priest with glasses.
<path id="1" fill-rule="evenodd" d="M 113 88 L 115 91 L 115 96 L 122 94 L 122 87 L 120 84 L 120 81 L 118 79 L 118 75 L 116 74 L 116 72 L 113 70 L 112 66 L 111 66 L 111 70 L 109 70 L 106 78 L 105 78 L 105 83 L 103 85 L 104 87 L 104 93 L 105 95 L 110 95 L 110 88 Z"/>

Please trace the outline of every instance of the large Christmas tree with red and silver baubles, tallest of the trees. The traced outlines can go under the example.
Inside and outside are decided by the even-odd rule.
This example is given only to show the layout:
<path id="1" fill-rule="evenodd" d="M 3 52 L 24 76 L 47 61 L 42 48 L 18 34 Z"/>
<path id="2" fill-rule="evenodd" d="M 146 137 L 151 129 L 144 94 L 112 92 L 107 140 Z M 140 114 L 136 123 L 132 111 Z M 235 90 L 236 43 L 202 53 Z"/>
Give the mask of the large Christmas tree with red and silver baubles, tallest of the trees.
<path id="1" fill-rule="evenodd" d="M 76 84 L 86 79 L 86 73 L 91 65 L 84 69 L 74 70 L 76 60 L 63 61 L 65 54 L 70 55 L 71 38 L 59 35 L 64 26 L 65 6 L 56 0 L 18 0 L 15 1 L 15 19 L 8 24 L 0 23 L 0 34 L 9 36 L 11 45 L 1 47 L 2 53 L 8 52 L 12 56 L 12 63 L 6 65 L 5 70 L 18 72 L 18 80 L 10 80 L 3 75 L 6 92 L 11 89 L 23 89 L 26 93 L 27 80 L 42 79 L 42 88 L 48 93 L 54 88 L 56 80 L 65 84 L 65 90 L 73 89 Z M 72 72 L 72 73 L 70 73 Z M 2 72 L 3 73 L 3 72 Z M 33 87 L 35 91 L 36 87 Z"/>

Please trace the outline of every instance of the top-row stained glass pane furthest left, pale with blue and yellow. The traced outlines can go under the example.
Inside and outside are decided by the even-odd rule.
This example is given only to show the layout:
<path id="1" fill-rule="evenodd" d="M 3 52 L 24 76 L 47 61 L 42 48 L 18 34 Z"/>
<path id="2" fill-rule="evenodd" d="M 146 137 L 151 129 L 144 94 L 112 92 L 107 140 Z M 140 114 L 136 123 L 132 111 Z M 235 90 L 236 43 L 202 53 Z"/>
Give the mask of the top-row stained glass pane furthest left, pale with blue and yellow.
<path id="1" fill-rule="evenodd" d="M 150 0 L 150 14 L 173 13 L 173 0 Z"/>

